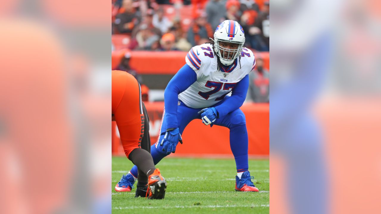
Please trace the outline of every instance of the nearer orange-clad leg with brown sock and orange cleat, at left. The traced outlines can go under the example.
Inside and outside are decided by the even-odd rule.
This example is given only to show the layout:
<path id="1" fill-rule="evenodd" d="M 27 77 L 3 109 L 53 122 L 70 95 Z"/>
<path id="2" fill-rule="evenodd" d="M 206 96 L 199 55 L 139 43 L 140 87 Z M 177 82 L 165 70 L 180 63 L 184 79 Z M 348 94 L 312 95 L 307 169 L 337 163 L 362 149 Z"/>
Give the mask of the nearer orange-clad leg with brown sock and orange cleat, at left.
<path id="1" fill-rule="evenodd" d="M 157 191 L 147 192 L 148 198 L 164 198 L 166 182 L 155 168 L 149 152 L 141 149 L 141 140 L 144 134 L 144 115 L 140 95 L 140 86 L 131 75 L 126 72 L 112 73 L 112 113 L 118 126 L 120 140 L 126 156 L 142 172 L 142 179 L 149 179 L 149 186 Z M 131 79 L 133 78 L 133 79 Z M 124 177 L 124 176 L 123 176 Z M 155 177 L 155 179 L 153 179 Z M 115 188 L 116 190 L 116 188 Z M 159 191 L 162 190 L 160 193 Z"/>

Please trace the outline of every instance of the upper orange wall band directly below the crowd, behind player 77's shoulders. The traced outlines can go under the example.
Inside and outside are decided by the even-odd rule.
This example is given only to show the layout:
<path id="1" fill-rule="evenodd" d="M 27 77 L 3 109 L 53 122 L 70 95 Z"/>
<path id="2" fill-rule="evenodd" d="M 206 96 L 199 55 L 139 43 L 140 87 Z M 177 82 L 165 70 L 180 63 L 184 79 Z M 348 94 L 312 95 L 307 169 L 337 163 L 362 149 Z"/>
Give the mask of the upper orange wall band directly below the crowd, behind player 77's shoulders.
<path id="1" fill-rule="evenodd" d="M 120 63 L 126 50 L 112 51 L 114 70 Z M 184 64 L 188 52 L 182 51 L 131 51 L 130 65 L 141 74 L 175 74 Z M 264 67 L 269 69 L 269 52 L 255 52 L 256 58 L 261 57 Z"/>

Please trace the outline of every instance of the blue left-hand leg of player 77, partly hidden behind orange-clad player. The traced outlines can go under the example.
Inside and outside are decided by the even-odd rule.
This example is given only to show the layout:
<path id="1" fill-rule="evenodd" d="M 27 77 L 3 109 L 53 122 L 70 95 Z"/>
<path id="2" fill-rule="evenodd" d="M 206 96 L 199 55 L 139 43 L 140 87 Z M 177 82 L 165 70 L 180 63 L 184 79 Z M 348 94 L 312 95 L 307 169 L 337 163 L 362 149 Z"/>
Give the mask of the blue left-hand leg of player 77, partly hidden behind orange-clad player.
<path id="1" fill-rule="evenodd" d="M 187 107 L 185 104 L 180 102 L 180 105 L 178 105 L 177 108 L 177 121 L 179 126 L 179 132 L 182 134 L 185 127 L 194 119 L 198 118 L 199 115 L 197 112 L 199 109 L 192 109 L 190 107 Z M 164 157 L 167 156 L 167 153 L 165 151 L 162 151 L 158 149 L 158 144 L 163 140 L 164 134 L 165 134 L 165 127 L 166 127 L 166 121 L 165 121 L 165 110 L 163 111 L 163 117 L 162 117 L 162 123 L 160 125 L 160 132 L 158 139 L 154 145 L 151 146 L 151 155 L 152 159 L 154 160 L 154 164 L 156 165 L 160 160 L 162 160 Z M 134 182 L 136 180 L 136 176 L 138 174 L 138 168 L 136 166 L 133 166 L 131 170 L 128 172 L 128 174 L 131 174 L 133 176 L 134 180 L 131 180 L 131 182 Z"/>

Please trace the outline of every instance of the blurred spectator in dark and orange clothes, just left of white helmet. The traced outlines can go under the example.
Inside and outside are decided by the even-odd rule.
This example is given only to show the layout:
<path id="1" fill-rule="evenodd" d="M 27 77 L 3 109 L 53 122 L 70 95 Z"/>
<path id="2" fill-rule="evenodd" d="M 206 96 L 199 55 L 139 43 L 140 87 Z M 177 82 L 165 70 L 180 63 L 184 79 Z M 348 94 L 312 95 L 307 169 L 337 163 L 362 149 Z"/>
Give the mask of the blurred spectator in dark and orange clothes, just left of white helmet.
<path id="1" fill-rule="evenodd" d="M 215 30 L 207 22 L 207 14 L 199 12 L 193 25 L 189 27 L 187 40 L 192 46 L 201 45 L 205 41 L 202 38 L 209 40 L 209 38 L 213 38 L 214 32 Z"/>

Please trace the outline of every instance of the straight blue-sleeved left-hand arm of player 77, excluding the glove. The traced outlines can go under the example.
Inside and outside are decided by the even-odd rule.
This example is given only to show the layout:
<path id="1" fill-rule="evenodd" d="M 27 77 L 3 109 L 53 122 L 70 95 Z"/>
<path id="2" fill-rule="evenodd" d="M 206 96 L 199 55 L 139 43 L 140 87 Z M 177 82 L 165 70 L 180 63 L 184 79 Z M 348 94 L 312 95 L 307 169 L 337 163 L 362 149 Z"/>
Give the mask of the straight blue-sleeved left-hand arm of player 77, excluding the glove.
<path id="1" fill-rule="evenodd" d="M 177 128 L 178 96 L 197 80 L 196 72 L 185 64 L 169 81 L 164 91 L 166 129 Z"/>

